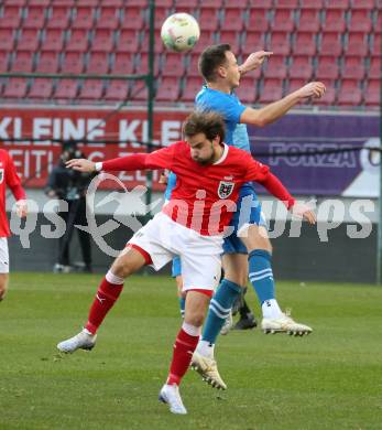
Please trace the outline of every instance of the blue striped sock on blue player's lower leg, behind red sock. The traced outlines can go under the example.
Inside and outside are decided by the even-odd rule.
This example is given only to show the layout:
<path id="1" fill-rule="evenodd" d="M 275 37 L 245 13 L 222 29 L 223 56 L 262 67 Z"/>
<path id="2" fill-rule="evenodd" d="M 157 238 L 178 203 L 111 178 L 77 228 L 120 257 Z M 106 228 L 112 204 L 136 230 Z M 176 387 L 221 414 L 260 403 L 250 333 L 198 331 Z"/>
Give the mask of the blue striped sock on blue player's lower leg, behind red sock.
<path id="1" fill-rule="evenodd" d="M 203 341 L 215 344 L 232 304 L 240 294 L 241 288 L 234 282 L 223 279 L 209 303 L 207 320 L 203 330 Z"/>

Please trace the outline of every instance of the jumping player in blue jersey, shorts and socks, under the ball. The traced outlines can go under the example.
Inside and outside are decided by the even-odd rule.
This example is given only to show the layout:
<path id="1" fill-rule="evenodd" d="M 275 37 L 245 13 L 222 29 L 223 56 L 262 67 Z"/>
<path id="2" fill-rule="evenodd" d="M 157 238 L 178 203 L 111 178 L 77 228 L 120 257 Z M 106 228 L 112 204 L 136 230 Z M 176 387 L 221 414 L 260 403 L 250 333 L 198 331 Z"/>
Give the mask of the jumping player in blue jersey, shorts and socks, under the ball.
<path id="1" fill-rule="evenodd" d="M 240 77 L 262 64 L 270 52 L 251 54 L 239 66 L 230 45 L 219 44 L 207 47 L 199 58 L 199 72 L 206 85 L 196 96 L 196 106 L 203 110 L 215 110 L 222 115 L 226 122 L 226 142 L 250 152 L 245 125 L 266 126 L 284 116 L 292 107 L 308 98 L 319 98 L 325 93 L 321 83 L 309 83 L 286 97 L 261 109 L 253 109 L 240 103 L 234 88 Z M 233 140 L 233 133 L 241 128 L 241 137 Z M 214 347 L 216 338 L 229 315 L 232 303 L 248 277 L 261 303 L 263 319 L 261 327 L 265 333 L 288 333 L 303 335 L 312 332 L 305 324 L 295 322 L 283 313 L 275 299 L 272 272 L 272 246 L 268 235 L 261 204 L 252 183 L 242 186 L 238 211 L 232 217 L 233 234 L 225 239 L 222 266 L 225 279 L 214 295 L 201 340 L 193 357 L 193 367 L 206 381 L 217 388 L 227 388 L 219 376 Z"/>

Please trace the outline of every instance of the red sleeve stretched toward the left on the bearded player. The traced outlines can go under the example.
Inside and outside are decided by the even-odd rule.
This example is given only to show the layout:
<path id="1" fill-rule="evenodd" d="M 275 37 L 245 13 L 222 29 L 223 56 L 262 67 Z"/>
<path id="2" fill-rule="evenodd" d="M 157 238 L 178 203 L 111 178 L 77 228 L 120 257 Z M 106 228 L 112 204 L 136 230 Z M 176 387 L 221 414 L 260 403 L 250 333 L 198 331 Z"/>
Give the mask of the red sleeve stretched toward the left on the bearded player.
<path id="1" fill-rule="evenodd" d="M 129 171 L 129 170 L 156 170 L 171 169 L 174 159 L 173 146 L 162 148 L 151 153 L 134 153 L 113 160 L 102 162 L 102 170 L 106 171 Z"/>

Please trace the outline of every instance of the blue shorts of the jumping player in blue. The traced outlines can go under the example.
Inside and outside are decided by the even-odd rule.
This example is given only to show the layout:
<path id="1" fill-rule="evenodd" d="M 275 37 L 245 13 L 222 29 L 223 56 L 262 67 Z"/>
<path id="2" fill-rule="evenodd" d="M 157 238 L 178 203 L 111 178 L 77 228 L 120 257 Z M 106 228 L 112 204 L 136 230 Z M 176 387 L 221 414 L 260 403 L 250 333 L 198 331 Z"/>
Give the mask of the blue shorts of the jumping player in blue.
<path id="1" fill-rule="evenodd" d="M 238 230 L 244 224 L 254 224 L 268 228 L 266 221 L 261 212 L 261 203 L 253 189 L 252 183 L 245 183 L 239 193 L 238 209 L 233 214 L 230 227 L 233 232 L 225 238 L 222 254 L 248 254 L 247 247 L 237 236 Z"/>

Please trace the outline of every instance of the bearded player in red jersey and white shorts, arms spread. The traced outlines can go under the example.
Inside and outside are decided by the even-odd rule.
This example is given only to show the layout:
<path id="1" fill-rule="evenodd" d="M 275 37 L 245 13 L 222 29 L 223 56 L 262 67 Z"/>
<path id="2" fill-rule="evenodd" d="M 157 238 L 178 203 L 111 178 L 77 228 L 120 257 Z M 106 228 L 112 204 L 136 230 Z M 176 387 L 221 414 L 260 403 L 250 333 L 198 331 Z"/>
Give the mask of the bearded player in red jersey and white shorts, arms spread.
<path id="1" fill-rule="evenodd" d="M 176 173 L 177 184 L 162 212 L 134 234 L 101 281 L 85 329 L 57 345 L 64 353 L 91 350 L 97 329 L 122 291 L 124 278 L 144 265 L 159 270 L 175 255 L 181 256 L 187 292 L 185 318 L 175 341 L 167 380 L 160 393 L 160 400 L 168 404 L 173 413 L 187 413 L 178 386 L 188 369 L 210 297 L 220 279 L 223 234 L 228 233 L 236 212 L 241 184 L 257 181 L 287 208 L 295 203 L 266 165 L 245 151 L 223 143 L 225 125 L 218 114 L 192 114 L 184 123 L 184 136 L 187 141 L 152 153 L 102 163 L 84 159 L 68 161 L 68 168 L 80 172 L 170 169 Z M 315 223 L 312 211 L 304 208 L 302 216 Z"/>

